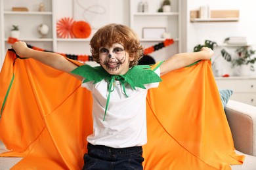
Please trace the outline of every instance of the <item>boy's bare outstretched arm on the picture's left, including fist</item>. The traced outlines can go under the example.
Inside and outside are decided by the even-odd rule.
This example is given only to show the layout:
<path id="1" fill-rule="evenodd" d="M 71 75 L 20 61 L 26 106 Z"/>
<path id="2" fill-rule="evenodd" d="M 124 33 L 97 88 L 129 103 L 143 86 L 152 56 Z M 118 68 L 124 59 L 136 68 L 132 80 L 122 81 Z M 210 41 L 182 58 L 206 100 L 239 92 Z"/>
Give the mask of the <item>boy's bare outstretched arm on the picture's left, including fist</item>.
<path id="1" fill-rule="evenodd" d="M 32 48 L 28 48 L 26 42 L 14 42 L 14 44 L 12 44 L 12 48 L 15 50 L 18 56 L 36 59 L 37 61 L 48 65 L 49 67 L 53 67 L 54 69 L 58 69 L 66 73 L 70 73 L 72 70 L 78 67 L 74 63 L 68 61 L 68 59 L 62 57 L 60 54 L 56 54 L 54 52 L 42 52 L 38 50 L 33 50 Z M 75 78 L 78 78 L 79 80 L 83 79 L 82 76 L 73 76 L 75 76 Z"/>

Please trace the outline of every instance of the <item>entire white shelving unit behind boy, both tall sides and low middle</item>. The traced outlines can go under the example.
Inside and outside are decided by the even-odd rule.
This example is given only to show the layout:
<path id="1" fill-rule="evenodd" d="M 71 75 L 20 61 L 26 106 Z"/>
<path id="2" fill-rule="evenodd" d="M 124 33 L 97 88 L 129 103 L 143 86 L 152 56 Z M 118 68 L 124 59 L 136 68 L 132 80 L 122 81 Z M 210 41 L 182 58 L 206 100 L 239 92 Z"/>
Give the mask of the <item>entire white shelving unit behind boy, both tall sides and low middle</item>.
<path id="1" fill-rule="evenodd" d="M 130 20 L 128 24 L 139 34 L 140 41 L 144 47 L 158 44 L 158 42 L 164 41 L 164 39 L 161 37 L 157 39 L 142 39 L 142 27 L 165 27 L 166 32 L 171 33 L 171 38 L 175 40 L 175 43 L 153 54 L 153 56 L 158 56 L 159 60 L 166 59 L 166 57 L 181 52 L 180 1 L 171 0 L 171 12 L 157 12 L 162 1 L 147 1 L 149 12 L 139 13 L 137 12 L 137 5 L 140 0 L 129 0 L 130 9 L 128 12 Z M 44 12 L 39 12 L 40 3 L 44 3 L 45 5 Z M 7 49 L 11 48 L 11 44 L 8 44 L 7 41 L 10 37 L 12 25 L 19 25 L 19 40 L 26 41 L 33 46 L 66 54 L 90 54 L 90 37 L 88 39 L 61 39 L 57 37 L 56 14 L 58 10 L 61 10 L 57 4 L 60 4 L 60 0 L 0 0 L 0 67 L 3 64 Z M 26 7 L 28 11 L 12 11 L 12 7 Z M 47 24 L 50 28 L 49 34 L 44 39 L 41 39 L 41 35 L 37 32 L 37 27 L 40 24 Z"/>

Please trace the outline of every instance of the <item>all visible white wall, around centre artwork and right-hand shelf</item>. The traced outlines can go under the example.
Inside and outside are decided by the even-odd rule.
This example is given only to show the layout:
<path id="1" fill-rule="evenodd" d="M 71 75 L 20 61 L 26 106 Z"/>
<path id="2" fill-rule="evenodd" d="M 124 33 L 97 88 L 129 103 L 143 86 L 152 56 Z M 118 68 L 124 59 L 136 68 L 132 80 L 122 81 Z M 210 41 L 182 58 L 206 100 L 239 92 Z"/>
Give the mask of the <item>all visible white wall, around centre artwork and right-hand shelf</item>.
<path id="1" fill-rule="evenodd" d="M 100 0 L 98 0 L 100 1 Z M 226 37 L 231 36 L 245 36 L 247 37 L 248 44 L 256 45 L 256 1 L 253 0 L 180 0 L 181 1 L 181 18 L 182 18 L 182 52 L 192 52 L 194 46 L 203 44 L 206 39 L 215 41 L 218 44 L 222 44 Z M 62 17 L 73 17 L 73 3 L 77 0 L 66 0 L 63 3 L 62 0 L 56 0 L 56 19 Z M 150 1 L 148 1 L 150 3 Z M 198 10 L 202 5 L 209 5 L 211 10 L 240 10 L 239 22 L 190 22 L 190 10 Z M 120 24 L 129 25 L 129 0 L 110 0 L 109 21 Z M 75 18 L 74 18 L 75 19 Z M 61 44 L 61 52 L 72 52 L 73 54 L 90 54 L 88 43 L 75 43 Z M 154 43 L 148 43 L 147 46 Z M 87 52 L 84 50 L 87 48 Z M 73 51 L 70 49 L 74 49 Z M 151 54 L 157 61 L 159 59 L 165 59 L 168 50 L 159 50 Z M 231 64 L 224 60 L 220 56 L 221 48 L 215 48 L 215 61 L 217 68 L 221 69 L 223 74 L 228 73 L 232 75 Z M 228 52 L 232 54 L 230 48 L 226 48 Z M 256 74 L 256 71 L 255 71 Z"/>

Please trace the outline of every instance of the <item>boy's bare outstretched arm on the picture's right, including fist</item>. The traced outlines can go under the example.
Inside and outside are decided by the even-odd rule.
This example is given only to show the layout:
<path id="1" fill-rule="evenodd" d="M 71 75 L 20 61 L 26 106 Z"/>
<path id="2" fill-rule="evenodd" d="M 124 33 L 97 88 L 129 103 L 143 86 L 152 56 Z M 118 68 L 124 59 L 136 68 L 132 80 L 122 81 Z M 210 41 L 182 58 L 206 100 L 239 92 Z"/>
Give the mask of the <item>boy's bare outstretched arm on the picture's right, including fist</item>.
<path id="1" fill-rule="evenodd" d="M 201 59 L 211 59 L 213 50 L 211 48 L 203 47 L 200 52 L 188 52 L 175 54 L 164 61 L 160 66 L 160 75 L 164 75 L 175 69 L 186 67 Z"/>

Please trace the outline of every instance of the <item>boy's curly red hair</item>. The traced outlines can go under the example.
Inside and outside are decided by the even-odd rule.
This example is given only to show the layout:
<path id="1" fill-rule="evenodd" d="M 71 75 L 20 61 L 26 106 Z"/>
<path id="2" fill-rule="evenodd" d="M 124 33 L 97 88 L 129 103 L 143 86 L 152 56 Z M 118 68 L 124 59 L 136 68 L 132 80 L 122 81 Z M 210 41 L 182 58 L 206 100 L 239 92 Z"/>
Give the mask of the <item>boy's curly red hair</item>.
<path id="1" fill-rule="evenodd" d="M 137 65 L 143 56 L 142 45 L 137 34 L 130 27 L 121 24 L 108 24 L 96 31 L 90 42 L 93 60 L 100 63 L 100 47 L 112 46 L 114 43 L 122 44 L 129 57 L 134 58 L 129 63 L 130 67 Z"/>

